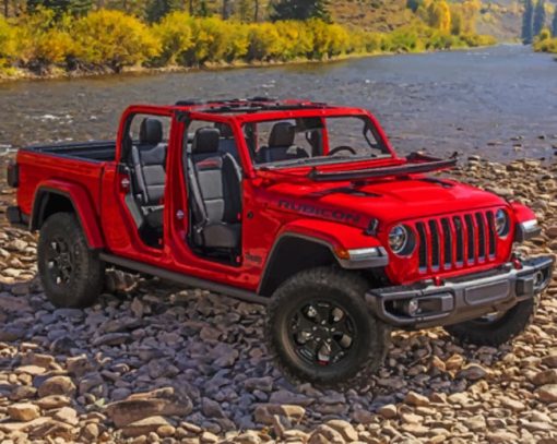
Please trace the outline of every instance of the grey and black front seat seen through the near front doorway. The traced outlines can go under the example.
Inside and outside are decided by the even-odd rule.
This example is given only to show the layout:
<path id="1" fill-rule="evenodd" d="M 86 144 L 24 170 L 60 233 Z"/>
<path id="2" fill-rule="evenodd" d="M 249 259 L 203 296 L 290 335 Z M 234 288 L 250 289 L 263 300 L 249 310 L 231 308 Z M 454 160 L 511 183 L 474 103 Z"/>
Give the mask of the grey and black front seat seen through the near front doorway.
<path id="1" fill-rule="evenodd" d="M 187 153 L 193 242 L 234 253 L 241 238 L 241 172 L 234 157 L 218 151 L 221 132 L 200 128 Z"/>

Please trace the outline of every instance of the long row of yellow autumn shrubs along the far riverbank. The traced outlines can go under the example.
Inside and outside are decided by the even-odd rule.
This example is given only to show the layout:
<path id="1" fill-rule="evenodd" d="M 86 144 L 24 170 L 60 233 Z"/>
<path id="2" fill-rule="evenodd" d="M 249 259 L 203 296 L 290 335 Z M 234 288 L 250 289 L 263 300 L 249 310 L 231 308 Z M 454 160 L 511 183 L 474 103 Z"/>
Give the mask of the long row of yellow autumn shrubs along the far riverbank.
<path id="1" fill-rule="evenodd" d="M 390 33 L 377 33 L 318 19 L 242 23 L 185 12 L 149 24 L 103 9 L 75 21 L 57 21 L 52 11 L 38 9 L 20 20 L 0 17 L 0 75 L 46 79 L 273 65 L 491 44 L 495 39 L 489 36 L 441 29 L 418 19 Z"/>

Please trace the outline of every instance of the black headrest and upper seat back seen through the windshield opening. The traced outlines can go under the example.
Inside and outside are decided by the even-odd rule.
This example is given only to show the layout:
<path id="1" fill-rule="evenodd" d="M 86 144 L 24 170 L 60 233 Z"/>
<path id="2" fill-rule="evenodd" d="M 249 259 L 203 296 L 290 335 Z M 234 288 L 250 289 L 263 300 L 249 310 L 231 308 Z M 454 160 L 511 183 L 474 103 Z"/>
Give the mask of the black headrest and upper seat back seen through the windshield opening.
<path id="1" fill-rule="evenodd" d="M 289 122 L 275 123 L 269 134 L 269 145 L 261 147 L 257 154 L 258 163 L 269 164 L 309 157 L 304 149 L 294 146 L 295 137 L 296 127 L 294 124 Z"/>

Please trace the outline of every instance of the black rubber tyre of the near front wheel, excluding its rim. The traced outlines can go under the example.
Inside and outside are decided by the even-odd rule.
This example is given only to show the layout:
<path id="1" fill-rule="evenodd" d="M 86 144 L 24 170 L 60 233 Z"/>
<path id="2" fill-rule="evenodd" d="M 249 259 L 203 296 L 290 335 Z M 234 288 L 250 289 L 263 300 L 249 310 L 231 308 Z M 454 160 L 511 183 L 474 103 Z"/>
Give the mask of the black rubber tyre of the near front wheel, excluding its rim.
<path id="1" fill-rule="evenodd" d="M 293 383 L 362 388 L 381 367 L 390 341 L 390 328 L 367 308 L 369 285 L 355 273 L 319 267 L 300 272 L 276 289 L 268 308 L 265 339 L 276 367 Z M 309 364 L 295 350 L 292 320 L 311 303 L 340 307 L 352 319 L 354 341 L 341 361 L 327 367 Z"/>

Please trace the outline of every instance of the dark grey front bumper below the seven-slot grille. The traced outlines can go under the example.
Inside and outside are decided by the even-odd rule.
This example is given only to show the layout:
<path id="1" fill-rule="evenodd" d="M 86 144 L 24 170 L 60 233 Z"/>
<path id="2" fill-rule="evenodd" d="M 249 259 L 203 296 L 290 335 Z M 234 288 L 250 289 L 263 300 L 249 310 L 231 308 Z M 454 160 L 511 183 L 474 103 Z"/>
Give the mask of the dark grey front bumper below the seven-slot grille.
<path id="1" fill-rule="evenodd" d="M 371 289 L 366 302 L 386 323 L 406 329 L 457 324 L 496 311 L 507 311 L 518 302 L 533 298 L 552 281 L 555 260 L 541 256 L 499 268 L 412 286 Z"/>

